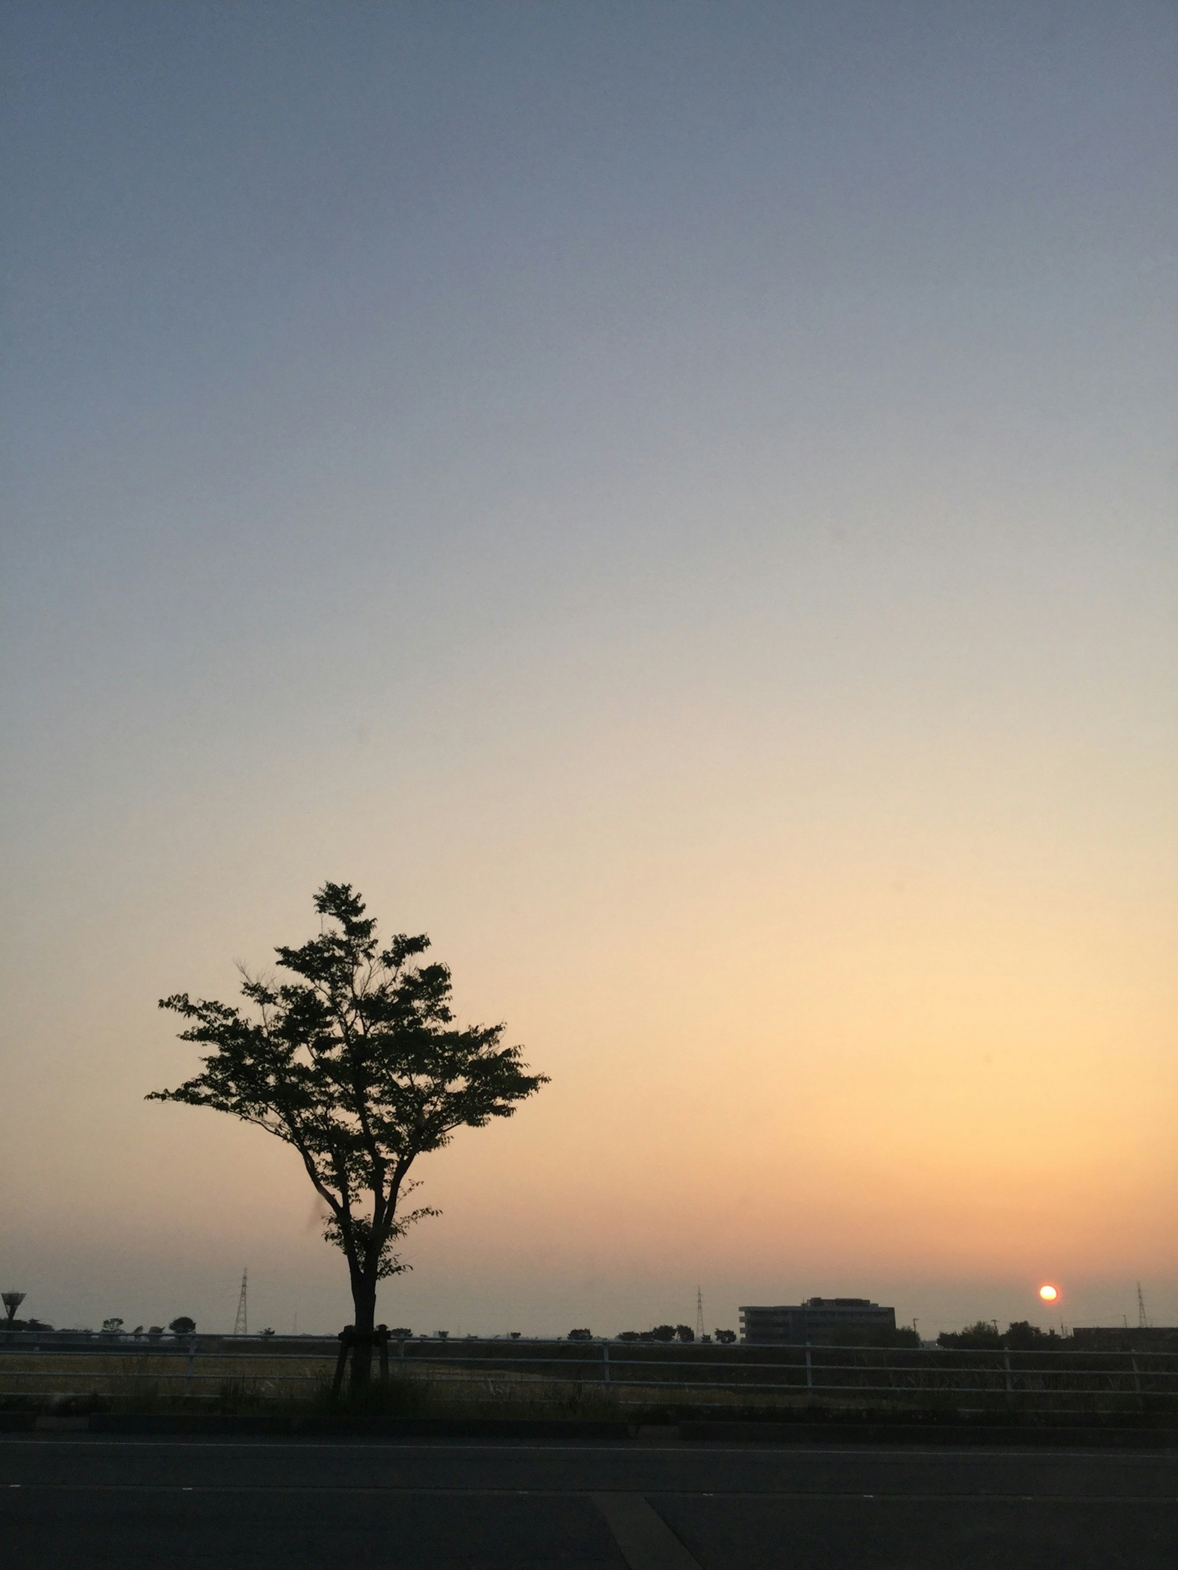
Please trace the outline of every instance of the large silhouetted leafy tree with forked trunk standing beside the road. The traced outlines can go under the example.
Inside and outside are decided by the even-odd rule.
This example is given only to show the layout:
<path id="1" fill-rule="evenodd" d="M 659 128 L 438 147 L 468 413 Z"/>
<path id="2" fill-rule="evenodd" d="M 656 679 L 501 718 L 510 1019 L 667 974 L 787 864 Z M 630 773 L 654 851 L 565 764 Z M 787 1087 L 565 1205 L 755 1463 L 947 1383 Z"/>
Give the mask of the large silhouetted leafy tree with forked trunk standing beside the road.
<path id="1" fill-rule="evenodd" d="M 181 1041 L 212 1050 L 204 1069 L 149 1101 L 214 1107 L 273 1134 L 298 1152 L 327 1206 L 325 1237 L 344 1251 L 360 1331 L 352 1380 L 368 1382 L 377 1283 L 408 1269 L 394 1251 L 427 1207 L 402 1212 L 418 1156 L 460 1127 L 509 1118 L 547 1083 L 525 1072 L 504 1025 L 455 1028 L 446 966 L 415 966 L 429 947 L 397 934 L 386 948 L 350 884 L 314 898 L 324 931 L 276 950 L 281 984 L 245 975 L 243 1014 L 226 1003 L 162 999 L 188 1028 Z"/>

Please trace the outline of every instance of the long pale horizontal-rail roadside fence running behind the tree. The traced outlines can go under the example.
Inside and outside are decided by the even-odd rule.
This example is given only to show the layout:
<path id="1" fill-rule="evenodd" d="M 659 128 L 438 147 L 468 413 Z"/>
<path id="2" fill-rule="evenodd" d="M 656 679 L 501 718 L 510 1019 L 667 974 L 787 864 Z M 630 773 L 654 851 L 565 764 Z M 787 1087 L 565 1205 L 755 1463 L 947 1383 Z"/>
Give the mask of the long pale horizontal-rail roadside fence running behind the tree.
<path id="1" fill-rule="evenodd" d="M 330 1382 L 336 1338 L 297 1345 L 278 1336 L 177 1336 L 162 1342 L 129 1338 L 71 1339 L 0 1336 L 0 1385 L 11 1378 L 77 1389 L 94 1380 L 182 1382 L 190 1399 L 218 1399 L 209 1385 L 245 1380 L 254 1388 L 313 1389 Z M 52 1366 L 33 1364 L 52 1363 Z M 85 1363 L 71 1369 L 71 1363 Z M 1059 1410 L 1107 1404 L 1178 1402 L 1173 1352 L 961 1352 L 894 1347 L 536 1342 L 397 1339 L 390 1344 L 394 1377 L 463 1382 L 501 1394 L 517 1382 L 543 1386 L 595 1385 L 619 1400 L 691 1399 L 693 1405 L 741 1400 L 944 1402 L 975 1397 L 980 1405 L 1037 1404 Z M 206 1389 L 201 1389 L 206 1386 Z M 699 1393 L 693 1397 L 691 1393 Z M 17 1394 L 3 1389 L 0 1394 Z M 25 1391 L 27 1394 L 27 1391 Z M 476 1397 L 477 1399 L 477 1397 Z M 487 1399 L 492 1399 L 490 1394 Z"/>

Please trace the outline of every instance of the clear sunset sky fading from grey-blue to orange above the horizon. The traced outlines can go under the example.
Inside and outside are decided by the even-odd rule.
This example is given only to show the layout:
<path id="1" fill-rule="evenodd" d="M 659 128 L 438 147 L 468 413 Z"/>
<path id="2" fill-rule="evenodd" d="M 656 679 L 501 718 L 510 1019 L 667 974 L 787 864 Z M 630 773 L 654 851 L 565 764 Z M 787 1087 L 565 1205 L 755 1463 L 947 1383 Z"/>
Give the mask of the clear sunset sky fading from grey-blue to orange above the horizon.
<path id="1" fill-rule="evenodd" d="M 553 1083 L 380 1314 L 1178 1322 L 1178 13 L 3 13 L 0 1281 L 335 1330 L 145 1104 L 350 881 Z"/>

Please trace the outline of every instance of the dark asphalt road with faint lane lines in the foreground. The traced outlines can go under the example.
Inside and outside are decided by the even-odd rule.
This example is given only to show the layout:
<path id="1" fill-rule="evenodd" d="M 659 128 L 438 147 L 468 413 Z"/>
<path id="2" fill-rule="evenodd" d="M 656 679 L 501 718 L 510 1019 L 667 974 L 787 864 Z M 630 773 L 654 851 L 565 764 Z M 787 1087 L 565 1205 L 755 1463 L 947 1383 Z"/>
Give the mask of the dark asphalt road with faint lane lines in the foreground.
<path id="1" fill-rule="evenodd" d="M 6 1570 L 1175 1570 L 1178 1455 L 0 1438 Z"/>

